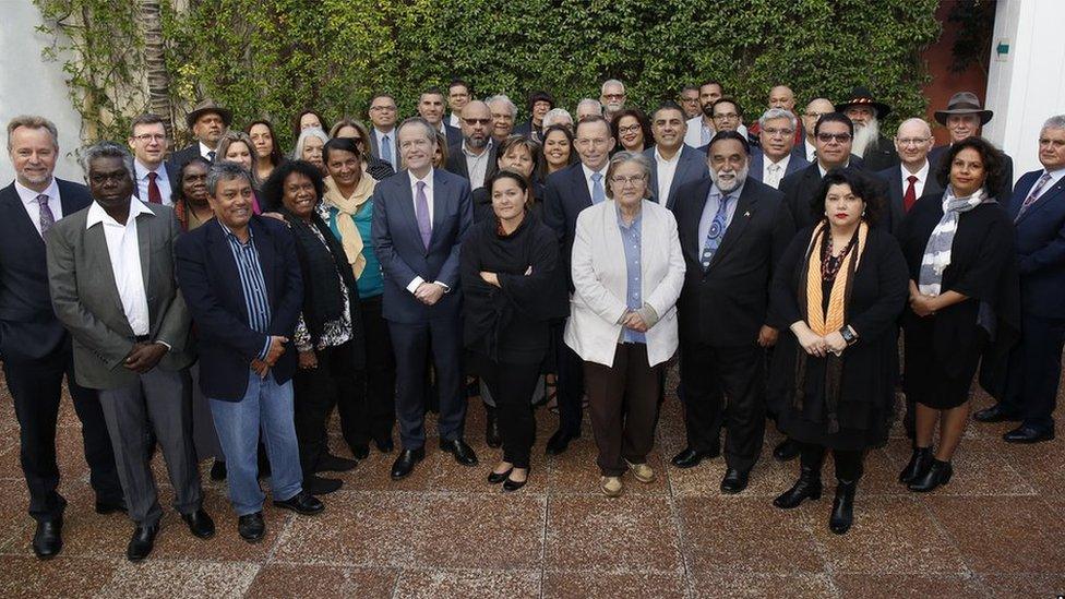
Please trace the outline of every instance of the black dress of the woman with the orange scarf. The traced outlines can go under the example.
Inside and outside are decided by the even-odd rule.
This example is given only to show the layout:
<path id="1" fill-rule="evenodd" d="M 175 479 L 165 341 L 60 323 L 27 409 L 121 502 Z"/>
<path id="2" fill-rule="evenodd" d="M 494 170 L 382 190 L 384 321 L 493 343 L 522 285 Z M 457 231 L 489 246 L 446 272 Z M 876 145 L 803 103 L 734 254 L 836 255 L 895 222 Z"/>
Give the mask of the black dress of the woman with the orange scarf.
<path id="1" fill-rule="evenodd" d="M 802 320 L 799 286 L 813 227 L 800 231 L 785 250 L 773 280 L 770 321 L 780 330 L 773 356 L 768 400 L 780 430 L 791 439 L 831 450 L 854 451 L 887 439 L 898 378 L 896 322 L 907 297 L 906 262 L 886 230 L 871 228 L 851 281 L 846 322 L 859 340 L 843 350 L 835 414 L 826 397 L 827 358 L 806 356 L 791 324 Z M 846 267 L 846 265 L 843 266 Z M 842 275 L 837 275 L 842 276 Z M 830 287 L 825 287 L 828 297 Z M 804 394 L 797 400 L 797 364 L 805 356 Z M 835 419 L 838 430 L 831 431 Z"/>

